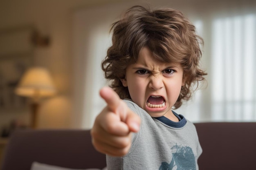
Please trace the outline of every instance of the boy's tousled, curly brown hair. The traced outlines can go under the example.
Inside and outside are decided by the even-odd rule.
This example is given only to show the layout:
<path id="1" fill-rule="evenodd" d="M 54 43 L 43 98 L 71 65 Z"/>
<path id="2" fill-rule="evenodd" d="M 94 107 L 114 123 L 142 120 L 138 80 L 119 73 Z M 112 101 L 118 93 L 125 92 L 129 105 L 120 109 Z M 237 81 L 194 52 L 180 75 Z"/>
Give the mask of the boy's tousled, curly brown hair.
<path id="1" fill-rule="evenodd" d="M 179 108 L 182 100 L 190 99 L 199 81 L 207 75 L 199 67 L 202 56 L 200 44 L 203 44 L 203 40 L 196 34 L 195 26 L 179 10 L 151 10 L 134 6 L 112 24 L 111 31 L 112 46 L 101 68 L 106 79 L 111 80 L 110 87 L 121 99 L 130 99 L 130 94 L 120 79 L 125 78 L 127 66 L 137 61 L 144 47 L 153 53 L 155 60 L 180 63 L 182 66 L 185 85 L 181 88 L 174 108 Z M 196 88 L 192 88 L 193 84 L 196 84 Z"/>

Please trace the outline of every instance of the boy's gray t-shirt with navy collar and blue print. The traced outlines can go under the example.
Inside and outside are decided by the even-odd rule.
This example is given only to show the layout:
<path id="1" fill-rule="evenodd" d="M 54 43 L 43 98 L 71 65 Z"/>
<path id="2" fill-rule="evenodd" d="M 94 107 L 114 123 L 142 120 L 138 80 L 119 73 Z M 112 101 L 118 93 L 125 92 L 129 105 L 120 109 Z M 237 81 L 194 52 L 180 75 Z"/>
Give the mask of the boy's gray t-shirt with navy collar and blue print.
<path id="1" fill-rule="evenodd" d="M 179 122 L 166 117 L 153 118 L 134 102 L 125 102 L 141 117 L 141 127 L 133 134 L 127 155 L 107 155 L 108 170 L 198 170 L 202 148 L 190 121 L 174 112 Z"/>

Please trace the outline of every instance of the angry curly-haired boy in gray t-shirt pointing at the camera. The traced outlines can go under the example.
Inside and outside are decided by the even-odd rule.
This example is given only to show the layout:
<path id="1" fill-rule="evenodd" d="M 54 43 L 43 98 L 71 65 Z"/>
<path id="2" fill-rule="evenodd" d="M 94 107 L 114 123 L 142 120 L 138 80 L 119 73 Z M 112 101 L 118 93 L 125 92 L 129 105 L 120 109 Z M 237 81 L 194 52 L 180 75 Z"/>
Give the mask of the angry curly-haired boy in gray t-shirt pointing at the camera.
<path id="1" fill-rule="evenodd" d="M 107 106 L 91 130 L 94 147 L 109 170 L 198 169 L 195 126 L 172 110 L 206 75 L 195 27 L 180 11 L 135 6 L 111 29 L 101 66 L 114 91 L 100 91 Z"/>

